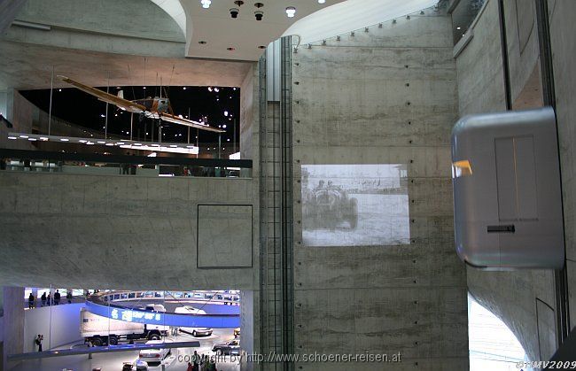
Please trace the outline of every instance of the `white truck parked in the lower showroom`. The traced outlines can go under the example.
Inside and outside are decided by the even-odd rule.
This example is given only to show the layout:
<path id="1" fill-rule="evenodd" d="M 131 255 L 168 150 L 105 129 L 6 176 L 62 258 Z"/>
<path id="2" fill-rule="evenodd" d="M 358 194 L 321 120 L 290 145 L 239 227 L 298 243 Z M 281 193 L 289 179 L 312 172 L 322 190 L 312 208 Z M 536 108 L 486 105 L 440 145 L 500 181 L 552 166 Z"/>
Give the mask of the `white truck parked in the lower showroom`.
<path id="1" fill-rule="evenodd" d="M 94 346 L 116 345 L 119 341 L 160 340 L 167 336 L 167 326 L 113 320 L 82 309 L 80 335 Z"/>

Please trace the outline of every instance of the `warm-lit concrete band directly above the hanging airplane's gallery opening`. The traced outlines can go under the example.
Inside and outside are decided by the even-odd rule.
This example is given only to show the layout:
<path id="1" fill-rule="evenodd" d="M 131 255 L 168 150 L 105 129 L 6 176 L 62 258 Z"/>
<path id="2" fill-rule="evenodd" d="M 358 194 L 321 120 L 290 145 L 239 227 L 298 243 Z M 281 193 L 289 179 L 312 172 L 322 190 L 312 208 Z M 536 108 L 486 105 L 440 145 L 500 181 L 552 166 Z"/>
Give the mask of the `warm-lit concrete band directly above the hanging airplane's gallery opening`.
<path id="1" fill-rule="evenodd" d="M 239 87 L 253 65 L 247 62 L 160 57 L 146 57 L 144 63 L 144 57 L 129 55 L 123 50 L 118 50 L 118 53 L 79 51 L 13 43 L 0 38 L 0 90 L 50 89 L 52 66 L 55 74 L 63 74 L 96 87 L 108 83 L 110 86 L 160 85 L 160 77 L 163 84 L 171 83 L 172 86 Z M 170 81 L 173 67 L 174 76 Z M 59 79 L 55 79 L 54 87 L 70 88 Z"/>

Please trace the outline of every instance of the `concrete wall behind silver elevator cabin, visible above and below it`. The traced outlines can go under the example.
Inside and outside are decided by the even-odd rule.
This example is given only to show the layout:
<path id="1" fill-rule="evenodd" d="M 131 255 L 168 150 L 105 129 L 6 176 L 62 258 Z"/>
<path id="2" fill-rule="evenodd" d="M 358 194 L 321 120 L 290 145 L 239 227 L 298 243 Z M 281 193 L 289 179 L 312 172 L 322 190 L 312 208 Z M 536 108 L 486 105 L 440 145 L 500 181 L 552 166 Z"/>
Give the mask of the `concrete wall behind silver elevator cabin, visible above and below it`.
<path id="1" fill-rule="evenodd" d="M 533 2 L 504 2 L 504 13 L 512 103 L 515 107 L 537 106 L 541 104 L 540 91 L 525 99 L 525 87 L 533 83 L 533 72 L 538 68 Z M 498 17 L 497 1 L 488 0 L 472 30 L 471 42 L 456 58 L 460 116 L 506 110 Z M 539 84 L 537 79 L 540 89 Z M 467 282 L 474 298 L 518 337 L 528 359 L 549 359 L 556 348 L 551 270 L 485 272 L 468 267 Z"/>

